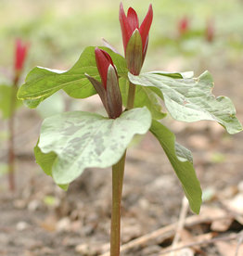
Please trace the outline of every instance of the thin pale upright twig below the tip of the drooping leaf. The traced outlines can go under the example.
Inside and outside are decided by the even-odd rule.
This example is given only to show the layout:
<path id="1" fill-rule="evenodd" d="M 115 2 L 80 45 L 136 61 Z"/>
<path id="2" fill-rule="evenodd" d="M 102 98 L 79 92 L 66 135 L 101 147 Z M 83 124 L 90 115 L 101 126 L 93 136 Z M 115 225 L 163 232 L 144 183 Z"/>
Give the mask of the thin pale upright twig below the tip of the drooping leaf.
<path id="1" fill-rule="evenodd" d="M 179 217 L 179 222 L 178 222 L 178 225 L 177 225 L 177 229 L 176 229 L 176 232 L 175 232 L 175 236 L 173 237 L 173 245 L 172 245 L 172 249 L 175 249 L 180 238 L 181 238 L 181 234 L 182 234 L 182 230 L 184 228 L 184 224 L 185 224 L 185 218 L 186 218 L 186 214 L 187 214 L 187 211 L 188 211 L 188 200 L 184 197 L 182 199 L 182 208 L 181 208 L 181 211 L 180 211 L 180 217 Z M 174 256 L 175 253 L 172 251 L 170 256 Z"/>

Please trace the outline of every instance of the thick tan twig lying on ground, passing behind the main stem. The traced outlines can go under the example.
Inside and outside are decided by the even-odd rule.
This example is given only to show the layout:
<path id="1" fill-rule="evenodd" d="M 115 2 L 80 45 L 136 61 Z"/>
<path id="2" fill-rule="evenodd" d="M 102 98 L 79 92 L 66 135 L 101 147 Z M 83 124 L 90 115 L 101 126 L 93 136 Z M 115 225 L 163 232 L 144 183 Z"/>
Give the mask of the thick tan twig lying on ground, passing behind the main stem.
<path id="1" fill-rule="evenodd" d="M 224 216 L 221 217 L 213 217 L 213 216 L 202 216 L 202 215 L 194 215 L 191 217 L 188 217 L 185 219 L 185 227 L 190 227 L 193 226 L 195 224 L 201 224 L 201 223 L 211 223 L 212 221 L 215 220 L 222 220 L 225 218 L 228 218 L 229 216 L 227 215 L 227 213 L 225 213 Z M 158 230 L 155 230 L 149 234 L 146 234 L 145 236 L 142 237 L 138 237 L 124 245 L 121 246 L 121 252 L 124 252 L 126 250 L 131 250 L 133 248 L 137 248 L 139 246 L 145 246 L 147 244 L 148 241 L 151 240 L 155 240 L 158 242 L 159 238 L 159 243 L 161 243 L 162 241 L 164 241 L 167 238 L 173 237 L 174 235 L 174 230 L 177 226 L 177 223 L 175 224 L 169 224 L 167 226 L 164 226 Z M 101 256 L 109 256 L 109 252 L 106 252 L 104 254 L 102 254 Z"/>

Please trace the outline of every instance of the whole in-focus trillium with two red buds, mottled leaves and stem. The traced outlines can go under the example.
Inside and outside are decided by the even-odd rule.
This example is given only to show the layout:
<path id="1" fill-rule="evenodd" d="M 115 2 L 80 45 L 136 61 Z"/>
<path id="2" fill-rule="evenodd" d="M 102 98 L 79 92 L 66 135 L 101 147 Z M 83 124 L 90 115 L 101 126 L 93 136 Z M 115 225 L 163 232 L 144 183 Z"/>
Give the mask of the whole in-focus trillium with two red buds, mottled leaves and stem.
<path id="1" fill-rule="evenodd" d="M 112 256 L 120 254 L 122 181 L 126 150 L 134 134 L 150 131 L 158 139 L 191 210 L 198 213 L 200 209 L 201 188 L 191 153 L 175 142 L 173 132 L 163 124 L 166 113 L 162 101 L 177 121 L 215 121 L 229 134 L 242 130 L 231 100 L 211 94 L 213 82 L 208 71 L 197 78 L 193 72 L 141 73 L 153 19 L 151 5 L 141 24 L 134 9 L 130 7 L 125 14 L 122 4 L 119 19 L 124 57 L 111 46 L 89 46 L 70 70 L 34 68 L 18 92 L 19 99 L 30 108 L 60 89 L 74 98 L 96 93 L 100 97 L 107 116 L 72 111 L 45 119 L 34 154 L 44 172 L 63 189 L 87 168 L 112 166 Z"/>

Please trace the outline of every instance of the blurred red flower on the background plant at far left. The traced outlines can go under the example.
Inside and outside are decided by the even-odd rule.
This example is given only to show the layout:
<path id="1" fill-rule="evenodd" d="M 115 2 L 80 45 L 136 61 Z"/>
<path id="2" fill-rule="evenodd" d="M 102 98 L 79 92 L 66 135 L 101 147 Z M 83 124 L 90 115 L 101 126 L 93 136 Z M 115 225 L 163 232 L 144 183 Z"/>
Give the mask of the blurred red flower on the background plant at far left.
<path id="1" fill-rule="evenodd" d="M 20 39 L 16 40 L 15 70 L 20 71 L 23 68 L 27 56 L 28 44 L 24 44 Z"/>

